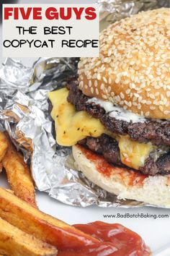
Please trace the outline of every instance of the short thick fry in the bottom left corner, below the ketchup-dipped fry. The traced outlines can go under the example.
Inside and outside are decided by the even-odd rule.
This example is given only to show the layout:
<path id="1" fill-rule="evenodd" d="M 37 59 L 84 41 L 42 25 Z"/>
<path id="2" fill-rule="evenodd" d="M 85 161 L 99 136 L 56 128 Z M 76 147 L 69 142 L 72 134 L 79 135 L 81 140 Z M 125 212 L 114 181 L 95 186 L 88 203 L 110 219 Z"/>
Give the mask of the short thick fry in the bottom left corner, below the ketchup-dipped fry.
<path id="1" fill-rule="evenodd" d="M 9 256 L 55 256 L 58 250 L 24 233 L 0 218 L 0 254 Z"/>

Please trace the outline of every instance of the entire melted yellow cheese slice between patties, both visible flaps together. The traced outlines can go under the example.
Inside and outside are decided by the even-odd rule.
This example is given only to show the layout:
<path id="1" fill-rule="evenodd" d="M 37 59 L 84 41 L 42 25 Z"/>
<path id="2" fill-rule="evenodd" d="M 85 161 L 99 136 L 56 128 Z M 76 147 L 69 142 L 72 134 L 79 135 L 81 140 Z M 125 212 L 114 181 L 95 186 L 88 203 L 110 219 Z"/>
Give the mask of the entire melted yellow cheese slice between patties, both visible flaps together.
<path id="1" fill-rule="evenodd" d="M 66 88 L 48 93 L 48 97 L 53 104 L 51 116 L 55 120 L 56 140 L 59 145 L 76 145 L 87 136 L 98 137 L 102 133 L 110 135 L 99 119 L 94 119 L 86 111 L 76 111 L 76 108 L 68 103 Z M 137 170 L 144 165 L 153 150 L 151 143 L 134 142 L 128 136 L 116 136 L 115 139 L 119 142 L 122 163 Z"/>

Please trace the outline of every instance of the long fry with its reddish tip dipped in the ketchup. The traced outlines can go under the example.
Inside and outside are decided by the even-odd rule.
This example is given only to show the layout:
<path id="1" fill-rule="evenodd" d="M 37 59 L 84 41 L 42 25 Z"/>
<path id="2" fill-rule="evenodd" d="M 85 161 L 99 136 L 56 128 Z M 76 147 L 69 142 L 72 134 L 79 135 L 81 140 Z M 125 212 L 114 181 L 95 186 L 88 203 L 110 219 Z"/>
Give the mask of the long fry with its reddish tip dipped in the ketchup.
<path id="1" fill-rule="evenodd" d="M 58 249 L 80 248 L 99 242 L 73 226 L 33 208 L 1 187 L 0 217 Z"/>

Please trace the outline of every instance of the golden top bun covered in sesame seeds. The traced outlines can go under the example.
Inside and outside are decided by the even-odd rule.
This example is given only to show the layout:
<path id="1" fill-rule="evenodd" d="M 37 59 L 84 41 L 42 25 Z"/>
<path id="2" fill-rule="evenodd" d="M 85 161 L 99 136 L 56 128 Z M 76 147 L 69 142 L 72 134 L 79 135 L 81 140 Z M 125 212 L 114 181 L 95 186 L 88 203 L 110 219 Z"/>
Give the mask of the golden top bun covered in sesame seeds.
<path id="1" fill-rule="evenodd" d="M 170 119 L 170 9 L 109 25 L 99 58 L 81 58 L 79 88 L 152 119 Z"/>

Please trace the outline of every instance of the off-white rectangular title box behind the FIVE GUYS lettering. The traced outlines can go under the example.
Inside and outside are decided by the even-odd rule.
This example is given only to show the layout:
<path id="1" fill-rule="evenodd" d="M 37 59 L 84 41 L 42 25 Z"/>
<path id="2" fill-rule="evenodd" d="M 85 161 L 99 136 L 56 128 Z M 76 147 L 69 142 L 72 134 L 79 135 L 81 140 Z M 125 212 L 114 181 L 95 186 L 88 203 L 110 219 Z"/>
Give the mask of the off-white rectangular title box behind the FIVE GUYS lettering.
<path id="1" fill-rule="evenodd" d="M 12 5 L 5 5 L 5 8 L 11 7 Z M 99 48 L 95 47 L 92 48 L 91 44 L 87 45 L 86 47 L 75 47 L 75 48 L 68 48 L 67 46 L 62 47 L 62 40 L 97 40 L 99 39 L 99 15 L 97 14 L 97 18 L 94 20 L 86 20 L 85 12 L 81 15 L 81 20 L 76 20 L 76 15 L 72 12 L 71 20 L 48 20 L 45 17 L 45 11 L 51 7 L 51 4 L 17 4 L 17 7 L 24 7 L 26 10 L 28 7 L 41 7 L 42 12 L 42 20 L 32 20 L 32 13 L 30 14 L 29 20 L 23 20 L 21 15 L 19 14 L 19 20 L 14 20 L 14 14 L 12 13 L 12 17 L 9 17 L 9 20 L 4 20 L 3 22 L 3 40 L 40 40 L 41 42 L 46 41 L 48 43 L 48 47 L 39 47 L 36 48 L 32 43 L 30 47 L 29 43 L 25 43 L 22 47 L 4 47 L 3 48 L 3 56 L 12 56 L 12 57 L 39 57 L 45 54 L 46 57 L 50 56 L 58 56 L 58 57 L 96 57 L 99 56 Z M 57 4 L 53 4 L 55 9 L 59 9 Z M 97 4 L 89 5 L 89 4 L 61 4 L 61 7 L 94 7 L 97 13 Z M 30 33 L 24 33 L 24 35 L 19 35 L 19 30 L 17 30 L 17 26 L 22 26 L 24 29 L 29 27 L 37 27 L 35 35 Z M 68 30 L 66 30 L 65 35 L 44 35 L 44 27 L 66 27 L 70 26 L 71 28 L 71 35 L 68 34 Z M 10 33 L 10 30 L 12 33 Z M 53 48 L 50 46 L 48 40 L 55 40 L 53 43 Z M 16 41 L 14 45 L 16 45 Z M 39 45 L 40 43 L 38 43 Z M 79 46 L 82 43 L 79 43 Z M 9 43 L 6 43 L 9 45 Z M 96 46 L 96 45 L 95 45 Z"/>

